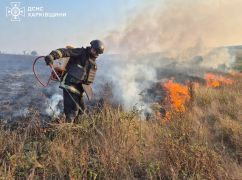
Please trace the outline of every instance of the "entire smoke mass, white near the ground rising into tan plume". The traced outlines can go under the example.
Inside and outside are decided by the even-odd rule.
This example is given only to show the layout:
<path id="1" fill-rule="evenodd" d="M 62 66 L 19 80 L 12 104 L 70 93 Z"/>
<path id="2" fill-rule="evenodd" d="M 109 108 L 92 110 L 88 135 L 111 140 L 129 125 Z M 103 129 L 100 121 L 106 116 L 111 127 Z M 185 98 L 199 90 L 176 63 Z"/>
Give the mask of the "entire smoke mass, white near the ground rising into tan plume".
<path id="1" fill-rule="evenodd" d="M 108 53 L 126 54 L 106 62 L 102 74 L 115 82 L 115 99 L 125 109 L 142 104 L 139 94 L 160 80 L 159 68 L 194 56 L 202 57 L 201 68 L 228 69 L 235 58 L 217 47 L 242 42 L 241 9 L 239 0 L 156 0 L 131 14 L 123 30 L 104 38 Z"/>

